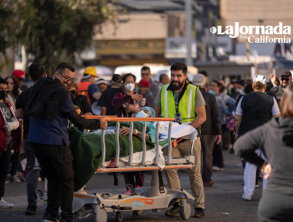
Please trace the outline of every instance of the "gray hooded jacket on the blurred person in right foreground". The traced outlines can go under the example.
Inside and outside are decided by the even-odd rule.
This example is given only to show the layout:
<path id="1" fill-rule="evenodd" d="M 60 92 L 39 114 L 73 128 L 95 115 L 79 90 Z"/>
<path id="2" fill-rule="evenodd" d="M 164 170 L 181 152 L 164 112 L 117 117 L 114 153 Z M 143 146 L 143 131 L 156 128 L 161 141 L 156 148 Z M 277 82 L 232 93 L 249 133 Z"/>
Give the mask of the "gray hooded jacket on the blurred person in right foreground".
<path id="1" fill-rule="evenodd" d="M 234 143 L 236 155 L 259 167 L 264 163 L 254 151 L 262 149 L 272 171 L 265 189 L 293 194 L 293 118 L 276 118 L 245 135 Z"/>

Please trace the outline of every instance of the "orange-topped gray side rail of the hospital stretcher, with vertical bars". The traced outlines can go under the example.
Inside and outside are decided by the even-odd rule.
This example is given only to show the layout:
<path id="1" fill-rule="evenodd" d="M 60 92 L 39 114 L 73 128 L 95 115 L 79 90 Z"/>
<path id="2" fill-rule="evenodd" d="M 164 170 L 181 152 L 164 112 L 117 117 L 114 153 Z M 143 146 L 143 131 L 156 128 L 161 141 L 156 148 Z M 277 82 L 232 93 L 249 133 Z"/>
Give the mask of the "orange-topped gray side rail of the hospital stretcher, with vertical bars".
<path id="1" fill-rule="evenodd" d="M 100 116 L 99 116 L 100 118 Z M 94 116 L 91 116 L 91 119 L 94 119 Z M 112 161 L 105 161 L 106 156 L 106 146 L 105 146 L 105 130 L 102 130 L 102 162 L 100 164 L 99 169 L 96 172 L 123 172 L 123 171 L 150 171 L 150 170 L 160 170 L 159 168 L 159 129 L 160 124 L 159 121 L 169 121 L 168 127 L 168 145 L 172 147 L 172 140 L 171 140 L 171 131 L 172 131 L 172 121 L 174 118 L 115 118 L 115 117 L 106 117 L 104 120 L 106 121 L 117 121 L 116 124 L 116 156 L 120 155 L 120 147 L 119 147 L 119 130 L 120 130 L 120 122 L 130 121 L 130 128 L 129 128 L 129 158 L 128 162 L 124 163 L 119 160 L 119 158 L 115 158 L 114 164 L 110 167 Z M 141 121 L 143 123 L 142 128 L 142 158 L 140 164 L 132 165 L 133 163 L 133 121 Z M 151 165 L 145 165 L 145 158 L 146 158 L 146 142 L 145 142 L 145 132 L 146 132 L 146 122 L 149 121 L 156 121 L 156 153 L 154 162 Z M 194 141 L 193 141 L 194 142 Z M 192 146 L 193 146 L 192 142 Z M 179 169 L 179 168 L 192 168 L 192 164 L 194 164 L 194 156 L 192 155 L 192 146 L 189 156 L 184 156 L 180 158 L 172 157 L 172 149 L 168 149 L 168 156 L 165 157 L 165 168 L 164 169 Z"/>

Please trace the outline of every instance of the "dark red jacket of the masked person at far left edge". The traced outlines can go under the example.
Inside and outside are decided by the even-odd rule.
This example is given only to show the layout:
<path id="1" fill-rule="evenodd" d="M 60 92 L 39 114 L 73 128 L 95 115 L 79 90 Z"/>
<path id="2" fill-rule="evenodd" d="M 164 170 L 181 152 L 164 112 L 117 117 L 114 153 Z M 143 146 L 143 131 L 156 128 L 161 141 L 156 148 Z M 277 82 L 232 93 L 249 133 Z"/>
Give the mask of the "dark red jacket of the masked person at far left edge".
<path id="1" fill-rule="evenodd" d="M 14 110 L 12 108 L 10 101 L 8 101 L 5 98 L 4 102 L 9 107 L 13 117 L 16 119 L 15 114 L 14 114 Z M 19 123 L 19 126 L 21 126 L 19 120 L 17 120 L 17 121 Z M 0 150 L 6 150 L 6 148 L 7 148 L 6 132 L 3 128 L 4 125 L 5 125 L 4 117 L 2 115 L 2 112 L 0 112 Z M 19 150 L 22 145 L 22 129 L 21 129 L 21 127 L 18 127 L 17 129 L 12 130 L 11 136 L 12 136 L 12 142 L 13 142 L 12 149 Z"/>

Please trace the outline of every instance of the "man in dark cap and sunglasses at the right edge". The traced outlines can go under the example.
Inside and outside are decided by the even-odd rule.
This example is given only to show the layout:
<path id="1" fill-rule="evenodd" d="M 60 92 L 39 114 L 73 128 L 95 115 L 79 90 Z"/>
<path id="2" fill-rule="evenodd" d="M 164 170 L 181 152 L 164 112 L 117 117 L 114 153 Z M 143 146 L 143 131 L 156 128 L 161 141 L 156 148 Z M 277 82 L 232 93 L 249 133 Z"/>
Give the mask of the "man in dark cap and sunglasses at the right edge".
<path id="1" fill-rule="evenodd" d="M 273 95 L 280 107 L 280 101 L 286 86 L 292 82 L 292 74 L 289 70 L 283 70 L 280 74 L 280 85 L 270 89 L 269 94 Z"/>

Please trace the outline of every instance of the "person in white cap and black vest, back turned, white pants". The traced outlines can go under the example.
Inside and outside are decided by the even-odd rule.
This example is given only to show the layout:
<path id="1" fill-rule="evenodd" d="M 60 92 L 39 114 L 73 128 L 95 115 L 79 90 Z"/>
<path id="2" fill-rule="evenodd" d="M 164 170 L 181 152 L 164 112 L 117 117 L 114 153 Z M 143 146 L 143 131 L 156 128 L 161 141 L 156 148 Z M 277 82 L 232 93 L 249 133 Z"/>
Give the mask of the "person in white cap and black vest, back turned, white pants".
<path id="1" fill-rule="evenodd" d="M 269 122 L 272 117 L 276 118 L 280 114 L 280 110 L 276 99 L 268 94 L 266 90 L 266 77 L 256 75 L 253 78 L 252 87 L 254 91 L 243 96 L 236 108 L 235 130 L 236 139 L 241 135 Z M 256 150 L 259 156 L 266 160 L 265 154 L 261 150 Z M 244 194 L 242 198 L 251 200 L 256 186 L 257 165 L 247 160 L 244 170 Z M 263 187 L 265 186 L 265 180 Z"/>

